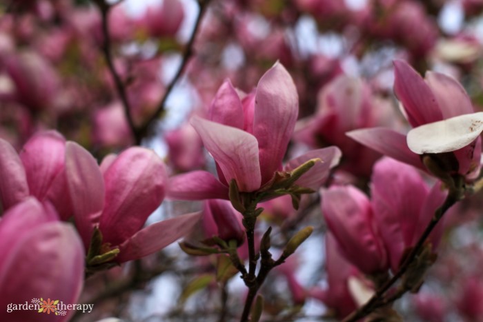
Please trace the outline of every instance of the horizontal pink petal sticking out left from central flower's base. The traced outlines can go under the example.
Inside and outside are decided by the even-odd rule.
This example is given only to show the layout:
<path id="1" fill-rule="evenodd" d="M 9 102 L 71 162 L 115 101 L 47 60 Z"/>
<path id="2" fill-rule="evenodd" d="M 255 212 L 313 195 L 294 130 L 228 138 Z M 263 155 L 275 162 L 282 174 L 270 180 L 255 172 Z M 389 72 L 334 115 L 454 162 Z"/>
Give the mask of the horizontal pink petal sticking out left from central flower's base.
<path id="1" fill-rule="evenodd" d="M 178 200 L 228 199 L 228 187 L 210 172 L 198 170 L 171 177 L 166 195 Z"/>

